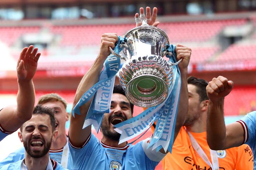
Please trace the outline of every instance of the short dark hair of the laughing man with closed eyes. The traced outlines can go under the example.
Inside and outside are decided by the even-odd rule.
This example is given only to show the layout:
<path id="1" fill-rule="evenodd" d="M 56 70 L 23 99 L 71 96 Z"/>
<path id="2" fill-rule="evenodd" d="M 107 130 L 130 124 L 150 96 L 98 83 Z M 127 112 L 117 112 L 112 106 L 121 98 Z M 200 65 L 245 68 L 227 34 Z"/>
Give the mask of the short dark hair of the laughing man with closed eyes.
<path id="1" fill-rule="evenodd" d="M 52 131 L 55 130 L 55 116 L 54 116 L 54 111 L 53 109 L 49 108 L 49 107 L 44 107 L 42 105 L 36 105 L 36 107 L 33 110 L 33 114 L 43 114 L 43 115 L 49 115 L 50 120 L 51 120 L 51 127 L 52 127 Z M 20 131 L 22 132 L 22 127 L 23 125 L 20 127 Z"/>

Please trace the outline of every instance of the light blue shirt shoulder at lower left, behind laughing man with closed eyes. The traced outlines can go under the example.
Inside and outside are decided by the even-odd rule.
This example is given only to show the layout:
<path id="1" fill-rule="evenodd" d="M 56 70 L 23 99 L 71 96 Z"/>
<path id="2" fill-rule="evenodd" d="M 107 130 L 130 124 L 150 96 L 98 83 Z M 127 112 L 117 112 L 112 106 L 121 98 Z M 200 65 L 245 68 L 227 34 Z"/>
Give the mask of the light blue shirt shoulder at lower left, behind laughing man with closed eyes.
<path id="1" fill-rule="evenodd" d="M 0 167 L 9 163 L 14 163 L 25 158 L 25 148 L 21 147 L 9 154 L 7 158 L 0 162 Z"/>

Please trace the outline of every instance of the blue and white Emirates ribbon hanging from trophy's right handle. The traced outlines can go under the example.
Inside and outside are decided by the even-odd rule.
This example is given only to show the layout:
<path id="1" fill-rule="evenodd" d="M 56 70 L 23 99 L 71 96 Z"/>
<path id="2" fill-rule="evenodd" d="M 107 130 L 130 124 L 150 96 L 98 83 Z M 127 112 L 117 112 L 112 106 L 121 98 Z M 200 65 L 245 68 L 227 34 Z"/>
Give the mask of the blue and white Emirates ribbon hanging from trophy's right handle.
<path id="1" fill-rule="evenodd" d="M 167 56 L 170 58 L 168 62 L 175 63 L 175 46 L 170 45 L 167 49 L 173 54 L 172 56 Z M 145 133 L 145 131 L 148 130 L 150 126 L 152 126 L 152 124 L 157 120 L 156 128 L 148 148 L 152 148 L 152 150 L 157 148 L 156 152 L 158 152 L 161 148 L 164 148 L 165 152 L 167 150 L 172 152 L 181 88 L 180 71 L 177 65 L 173 66 L 173 73 L 173 82 L 168 89 L 169 91 L 167 98 L 163 103 L 150 107 L 138 116 L 114 126 L 114 130 L 121 134 L 119 143 L 133 139 L 134 137 Z"/>

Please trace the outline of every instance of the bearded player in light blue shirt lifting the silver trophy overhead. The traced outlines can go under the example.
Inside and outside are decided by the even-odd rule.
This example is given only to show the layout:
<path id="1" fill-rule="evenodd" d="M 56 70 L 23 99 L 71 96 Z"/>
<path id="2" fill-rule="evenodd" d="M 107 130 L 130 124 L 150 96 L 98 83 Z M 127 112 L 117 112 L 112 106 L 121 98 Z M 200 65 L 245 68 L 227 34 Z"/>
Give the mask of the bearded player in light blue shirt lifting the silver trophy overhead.
<path id="1" fill-rule="evenodd" d="M 156 11 L 153 12 L 156 15 Z M 147 15 L 146 15 L 147 16 Z M 156 16 L 155 16 L 156 17 Z M 150 20 L 150 18 L 147 18 Z M 118 37 L 115 33 L 105 33 L 101 38 L 100 53 L 92 67 L 82 78 L 75 95 L 73 107 L 82 95 L 98 82 L 103 63 L 110 54 L 109 47 L 114 48 Z M 177 59 L 183 58 L 179 64 L 181 72 L 181 94 L 177 113 L 174 139 L 185 121 L 188 107 L 187 92 L 187 66 L 191 56 L 191 49 L 182 45 L 176 46 Z M 127 142 L 119 143 L 120 134 L 113 125 L 132 117 L 133 105 L 125 96 L 120 85 L 114 86 L 111 99 L 110 113 L 105 113 L 101 124 L 102 139 L 99 141 L 91 133 L 91 126 L 83 128 L 84 120 L 91 100 L 80 107 L 81 115 L 71 116 L 69 127 L 69 149 L 71 153 L 72 169 L 155 169 L 156 165 L 166 155 L 163 148 L 160 152 L 146 149 L 150 139 L 146 139 L 136 145 L 127 145 Z"/>

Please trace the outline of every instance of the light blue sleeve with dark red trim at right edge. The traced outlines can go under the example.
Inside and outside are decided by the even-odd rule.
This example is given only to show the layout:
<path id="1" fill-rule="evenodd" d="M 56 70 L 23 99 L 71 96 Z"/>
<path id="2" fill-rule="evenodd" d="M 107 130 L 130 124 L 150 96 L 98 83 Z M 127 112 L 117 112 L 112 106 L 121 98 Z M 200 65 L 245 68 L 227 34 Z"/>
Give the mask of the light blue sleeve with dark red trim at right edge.
<path id="1" fill-rule="evenodd" d="M 243 127 L 243 143 L 249 145 L 250 147 L 254 146 L 256 131 L 256 111 L 248 113 L 237 122 L 239 122 Z"/>

